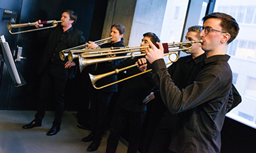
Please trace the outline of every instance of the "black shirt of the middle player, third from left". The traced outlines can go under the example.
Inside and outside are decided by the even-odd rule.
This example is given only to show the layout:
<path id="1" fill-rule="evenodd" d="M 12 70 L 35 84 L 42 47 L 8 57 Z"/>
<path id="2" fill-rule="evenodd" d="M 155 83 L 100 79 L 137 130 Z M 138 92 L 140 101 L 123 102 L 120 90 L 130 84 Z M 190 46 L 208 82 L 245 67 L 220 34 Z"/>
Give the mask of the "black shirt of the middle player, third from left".
<path id="1" fill-rule="evenodd" d="M 117 69 L 134 65 L 135 62 L 141 57 L 135 57 L 134 59 L 128 58 L 119 65 Z M 150 63 L 148 63 L 147 69 L 151 69 Z M 126 70 L 126 76 L 132 76 L 141 73 L 141 70 L 137 66 Z M 130 112 L 144 112 L 147 109 L 147 105 L 142 101 L 150 94 L 154 87 L 154 81 L 152 79 L 152 73 L 147 72 L 139 76 L 135 76 L 131 79 L 123 81 L 123 86 L 117 100 L 117 106 Z"/>

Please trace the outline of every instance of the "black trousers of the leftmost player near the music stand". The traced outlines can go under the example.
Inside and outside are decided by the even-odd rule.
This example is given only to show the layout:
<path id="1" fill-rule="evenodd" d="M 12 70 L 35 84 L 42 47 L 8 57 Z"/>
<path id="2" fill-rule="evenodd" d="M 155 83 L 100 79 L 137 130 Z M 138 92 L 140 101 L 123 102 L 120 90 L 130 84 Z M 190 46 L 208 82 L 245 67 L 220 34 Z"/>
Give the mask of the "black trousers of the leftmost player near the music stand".
<path id="1" fill-rule="evenodd" d="M 38 111 L 35 114 L 35 120 L 42 122 L 44 114 L 46 112 L 46 104 L 49 95 L 52 93 L 50 89 L 53 89 L 54 94 L 54 106 L 55 106 L 55 120 L 53 125 L 61 124 L 61 117 L 64 112 L 64 91 L 68 80 L 68 69 L 64 68 L 64 65 L 48 64 L 43 71 L 39 95 L 38 95 Z"/>

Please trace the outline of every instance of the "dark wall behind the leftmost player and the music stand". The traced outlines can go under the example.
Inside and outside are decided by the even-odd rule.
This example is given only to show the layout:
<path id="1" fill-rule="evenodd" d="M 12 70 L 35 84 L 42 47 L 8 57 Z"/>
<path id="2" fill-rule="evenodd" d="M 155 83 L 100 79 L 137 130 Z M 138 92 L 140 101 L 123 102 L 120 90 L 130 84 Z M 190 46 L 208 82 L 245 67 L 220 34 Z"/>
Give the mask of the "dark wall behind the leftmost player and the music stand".
<path id="1" fill-rule="evenodd" d="M 36 22 L 39 19 L 60 20 L 61 13 L 64 10 L 73 10 L 78 14 L 77 23 L 74 27 L 84 32 L 84 37 L 88 41 L 101 39 L 107 3 L 108 1 L 106 0 L 0 0 L 0 8 L 18 11 L 17 23 Z M 19 29 L 26 28 L 34 27 Z M 15 65 L 27 82 L 22 87 L 14 87 L 10 75 L 5 68 L 0 87 L 0 109 L 35 110 L 39 83 L 39 76 L 35 74 L 35 69 L 43 52 L 45 41 L 37 39 L 36 32 L 11 35 L 6 28 L 6 22 L 0 22 L 0 30 L 0 35 L 5 35 L 12 51 L 16 50 L 17 45 L 22 46 L 22 56 L 26 57 L 26 59 L 15 62 Z M 13 31 L 16 30 L 18 29 L 13 29 Z M 79 81 L 74 79 L 70 81 L 72 83 L 68 83 L 67 88 L 72 88 L 71 94 L 81 91 L 80 88 L 76 87 Z M 73 97 L 69 93 L 67 91 L 66 96 Z M 76 101 L 72 98 L 67 98 L 66 100 L 67 103 L 76 103 Z M 75 104 L 67 105 L 67 109 L 76 109 L 74 106 Z"/>

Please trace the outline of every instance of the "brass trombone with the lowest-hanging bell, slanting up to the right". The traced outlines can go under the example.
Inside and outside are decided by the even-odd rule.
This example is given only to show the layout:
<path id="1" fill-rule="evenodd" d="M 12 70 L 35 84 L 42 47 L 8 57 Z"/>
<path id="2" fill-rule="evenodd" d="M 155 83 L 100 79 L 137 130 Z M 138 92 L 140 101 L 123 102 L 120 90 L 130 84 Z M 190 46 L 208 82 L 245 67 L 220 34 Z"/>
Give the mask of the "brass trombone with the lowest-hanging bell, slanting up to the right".
<path id="1" fill-rule="evenodd" d="M 203 41 L 202 41 L 202 40 L 199 40 L 199 41 L 178 42 L 178 43 L 180 43 L 180 45 L 183 44 L 183 43 L 186 44 L 186 45 L 185 45 L 185 46 L 182 45 L 181 47 L 179 47 L 179 49 L 172 49 L 171 51 L 169 50 L 168 53 L 166 53 L 166 51 L 164 51 L 164 52 L 166 53 L 166 54 L 164 54 L 164 56 L 169 56 L 169 60 L 171 61 L 171 62 L 166 63 L 166 65 L 168 65 L 168 64 L 170 64 L 170 63 L 172 63 L 172 62 L 176 62 L 176 61 L 177 61 L 177 59 L 179 58 L 179 55 L 178 55 L 176 52 L 178 52 L 178 51 L 183 51 L 183 52 L 185 52 L 185 53 L 189 53 L 189 52 L 191 52 L 191 50 L 192 50 L 192 43 L 197 43 L 197 42 L 200 42 L 200 43 L 201 43 L 201 42 L 203 42 Z M 174 46 L 172 46 L 172 47 L 174 47 Z M 175 54 L 175 55 L 176 55 L 176 59 L 175 59 L 175 60 L 172 60 L 172 59 L 171 59 L 171 54 Z M 146 55 L 146 54 L 143 54 L 143 55 Z M 115 57 L 113 57 L 113 58 L 115 58 Z M 105 88 L 105 87 L 108 87 L 108 86 L 112 86 L 112 85 L 115 84 L 115 83 L 119 83 L 119 82 L 122 82 L 122 81 L 124 81 L 124 80 L 130 79 L 130 78 L 134 78 L 135 76 L 138 76 L 138 75 L 147 73 L 147 72 L 149 72 L 149 71 L 152 70 L 152 69 L 146 70 L 146 71 L 144 71 L 144 72 L 142 72 L 142 73 L 138 73 L 138 74 L 129 76 L 129 77 L 127 77 L 127 78 L 118 80 L 118 81 L 116 81 L 116 82 L 113 82 L 113 83 L 110 83 L 110 84 L 106 84 L 105 86 L 96 87 L 96 82 L 97 82 L 97 80 L 100 80 L 100 79 L 102 79 L 102 78 L 105 78 L 106 76 L 118 74 L 118 73 L 121 72 L 121 71 L 125 71 L 125 70 L 130 69 L 130 68 L 132 68 L 132 67 L 135 67 L 135 66 L 137 66 L 137 65 L 138 65 L 138 63 L 136 63 L 136 64 L 134 64 L 134 65 L 131 65 L 131 66 L 123 67 L 122 69 L 115 69 L 114 71 L 111 71 L 111 72 L 105 73 L 105 74 L 99 74 L 99 75 L 92 75 L 92 74 L 89 74 L 90 80 L 92 81 L 93 87 L 96 88 L 97 90 L 100 90 L 101 88 Z"/>

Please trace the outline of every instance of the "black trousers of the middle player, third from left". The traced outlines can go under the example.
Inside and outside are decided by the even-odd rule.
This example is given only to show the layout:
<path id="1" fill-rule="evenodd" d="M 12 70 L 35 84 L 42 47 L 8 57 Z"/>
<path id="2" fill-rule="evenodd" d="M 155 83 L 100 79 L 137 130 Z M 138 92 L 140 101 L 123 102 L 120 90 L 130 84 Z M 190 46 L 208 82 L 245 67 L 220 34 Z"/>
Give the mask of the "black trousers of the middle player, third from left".
<path id="1" fill-rule="evenodd" d="M 129 125 L 129 146 L 127 152 L 136 153 L 145 115 L 146 111 L 130 112 L 118 106 L 115 107 L 106 153 L 115 152 L 117 150 L 119 138 L 127 125 Z"/>

